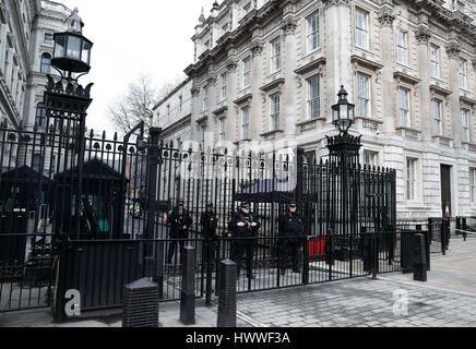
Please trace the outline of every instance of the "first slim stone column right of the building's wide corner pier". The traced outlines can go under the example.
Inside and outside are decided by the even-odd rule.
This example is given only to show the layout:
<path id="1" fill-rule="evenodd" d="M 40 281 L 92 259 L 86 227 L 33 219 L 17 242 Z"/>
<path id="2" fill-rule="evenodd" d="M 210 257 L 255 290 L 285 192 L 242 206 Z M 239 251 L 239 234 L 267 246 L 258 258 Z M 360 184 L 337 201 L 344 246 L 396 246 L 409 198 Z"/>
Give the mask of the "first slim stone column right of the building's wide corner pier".
<path id="1" fill-rule="evenodd" d="M 385 134 L 395 133 L 395 80 L 393 77 L 393 47 L 391 39 L 393 37 L 393 10 L 391 7 L 383 8 L 379 13 L 379 22 L 381 25 L 380 37 L 382 48 L 382 93 L 383 93 L 383 120 Z"/>

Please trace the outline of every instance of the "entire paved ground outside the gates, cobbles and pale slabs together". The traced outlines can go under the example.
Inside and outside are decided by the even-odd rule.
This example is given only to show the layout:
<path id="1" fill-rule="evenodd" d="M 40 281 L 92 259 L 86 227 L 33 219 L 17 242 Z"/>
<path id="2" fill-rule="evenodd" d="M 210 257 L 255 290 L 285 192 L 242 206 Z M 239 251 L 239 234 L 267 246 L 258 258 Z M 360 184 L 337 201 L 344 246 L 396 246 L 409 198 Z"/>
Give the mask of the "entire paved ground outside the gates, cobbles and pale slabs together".
<path id="1" fill-rule="evenodd" d="M 476 239 L 453 240 L 431 266 L 428 282 L 394 273 L 240 294 L 238 327 L 476 327 Z M 395 291 L 407 293 L 407 314 L 394 313 Z M 214 327 L 217 305 L 197 306 L 194 327 Z M 179 303 L 160 304 L 163 327 L 182 327 L 178 318 Z M 0 327 L 121 327 L 121 317 L 55 325 L 46 312 L 0 314 Z"/>

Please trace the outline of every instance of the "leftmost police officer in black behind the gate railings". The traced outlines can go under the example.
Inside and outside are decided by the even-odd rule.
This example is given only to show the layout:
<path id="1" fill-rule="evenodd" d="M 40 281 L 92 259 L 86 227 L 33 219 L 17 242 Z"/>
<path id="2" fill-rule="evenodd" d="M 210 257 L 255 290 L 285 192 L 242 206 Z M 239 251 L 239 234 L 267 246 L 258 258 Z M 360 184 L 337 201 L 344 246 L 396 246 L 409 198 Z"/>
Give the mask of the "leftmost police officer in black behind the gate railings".
<path id="1" fill-rule="evenodd" d="M 170 225 L 170 239 L 174 240 L 189 238 L 189 229 L 192 226 L 192 218 L 190 217 L 189 212 L 186 209 L 186 203 L 183 201 L 179 201 L 177 203 L 177 207 L 169 213 L 167 222 Z M 179 241 L 179 244 L 181 254 L 186 245 L 186 241 Z M 177 241 L 170 241 L 170 246 L 168 249 L 168 264 L 171 264 L 176 251 Z"/>

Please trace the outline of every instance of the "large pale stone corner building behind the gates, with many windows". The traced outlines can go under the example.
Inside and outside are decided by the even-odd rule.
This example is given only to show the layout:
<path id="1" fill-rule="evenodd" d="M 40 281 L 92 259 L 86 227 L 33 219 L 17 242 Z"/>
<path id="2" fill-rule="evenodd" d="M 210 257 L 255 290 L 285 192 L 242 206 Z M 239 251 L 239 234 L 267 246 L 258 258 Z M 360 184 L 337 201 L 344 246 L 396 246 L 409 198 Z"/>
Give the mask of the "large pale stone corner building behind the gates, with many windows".
<path id="1" fill-rule="evenodd" d="M 168 109 L 163 122 L 177 91 L 156 107 L 156 124 L 167 139 L 189 134 L 212 146 L 293 141 L 319 159 L 335 134 L 331 106 L 343 84 L 356 104 L 362 163 L 397 170 L 400 218 L 475 215 L 476 27 L 466 4 L 215 2 L 192 38 L 182 86 L 190 113 Z"/>

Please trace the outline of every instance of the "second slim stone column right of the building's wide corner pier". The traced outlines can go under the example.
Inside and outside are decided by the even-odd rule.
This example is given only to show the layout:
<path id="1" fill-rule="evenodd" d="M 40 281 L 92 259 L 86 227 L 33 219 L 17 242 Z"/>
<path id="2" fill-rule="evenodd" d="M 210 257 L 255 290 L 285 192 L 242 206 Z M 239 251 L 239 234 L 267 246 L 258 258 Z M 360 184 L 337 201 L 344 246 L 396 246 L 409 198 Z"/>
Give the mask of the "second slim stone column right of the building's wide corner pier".
<path id="1" fill-rule="evenodd" d="M 426 24 L 421 25 L 416 32 L 418 41 L 418 71 L 421 80 L 419 85 L 420 95 L 420 116 L 421 116 L 421 132 L 423 141 L 431 142 L 432 139 L 432 118 L 431 118 L 431 98 L 430 98 L 430 62 L 428 41 L 431 37 L 431 32 Z"/>

